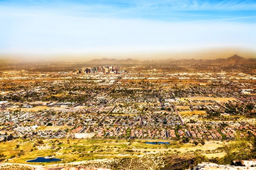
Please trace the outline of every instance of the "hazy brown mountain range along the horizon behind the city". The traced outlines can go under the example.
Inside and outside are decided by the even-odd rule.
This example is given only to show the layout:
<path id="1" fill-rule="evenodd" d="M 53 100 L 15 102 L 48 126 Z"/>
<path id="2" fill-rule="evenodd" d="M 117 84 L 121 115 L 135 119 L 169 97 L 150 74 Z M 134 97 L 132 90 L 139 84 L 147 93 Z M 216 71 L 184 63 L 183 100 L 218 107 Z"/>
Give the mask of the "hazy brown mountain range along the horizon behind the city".
<path id="1" fill-rule="evenodd" d="M 140 61 L 137 59 L 93 59 L 87 64 L 145 64 L 145 63 L 164 63 L 170 65 L 191 65 L 191 64 L 201 64 L 201 65 L 244 65 L 244 64 L 256 64 L 256 59 L 249 58 L 245 59 L 238 56 L 237 54 L 229 57 L 227 59 L 163 59 L 163 60 L 144 60 Z"/>

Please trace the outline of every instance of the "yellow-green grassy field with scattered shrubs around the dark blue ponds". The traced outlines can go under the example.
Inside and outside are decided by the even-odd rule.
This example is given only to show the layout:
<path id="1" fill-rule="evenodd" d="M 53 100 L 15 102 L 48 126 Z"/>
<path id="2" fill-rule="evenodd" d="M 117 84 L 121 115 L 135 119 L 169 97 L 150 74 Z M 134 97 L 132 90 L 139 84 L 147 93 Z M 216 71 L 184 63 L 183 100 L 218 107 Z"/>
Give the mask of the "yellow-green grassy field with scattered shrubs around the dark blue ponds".
<path id="1" fill-rule="evenodd" d="M 145 142 L 167 142 L 167 140 L 111 140 L 111 139 L 47 139 L 44 144 L 38 144 L 38 140 L 15 139 L 13 141 L 1 142 L 0 153 L 9 159 L 9 163 L 21 164 L 56 164 L 52 163 L 27 163 L 26 160 L 35 159 L 38 156 L 55 156 L 62 159 L 58 163 L 68 163 L 73 161 L 88 161 L 95 159 L 111 159 L 114 157 L 142 156 L 148 153 L 159 153 L 171 151 L 173 153 L 193 152 L 195 150 L 215 150 L 221 147 L 217 142 L 206 141 L 205 145 L 195 146 L 192 142 L 180 144 L 177 141 L 169 140 L 170 144 L 146 144 Z M 220 142 L 221 143 L 221 142 Z M 20 147 L 17 148 L 16 145 Z M 36 145 L 36 146 L 35 146 Z M 24 155 L 17 157 L 20 150 L 24 150 Z M 93 154 L 92 154 L 93 153 Z M 11 156 L 16 156 L 10 159 Z"/>

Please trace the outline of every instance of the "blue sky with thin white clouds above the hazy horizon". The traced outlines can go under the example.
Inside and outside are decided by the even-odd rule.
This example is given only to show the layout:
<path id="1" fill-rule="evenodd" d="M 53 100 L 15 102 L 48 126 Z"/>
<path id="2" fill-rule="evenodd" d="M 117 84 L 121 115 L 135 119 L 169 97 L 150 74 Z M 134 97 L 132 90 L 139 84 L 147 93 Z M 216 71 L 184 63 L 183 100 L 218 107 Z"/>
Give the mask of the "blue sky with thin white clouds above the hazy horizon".
<path id="1" fill-rule="evenodd" d="M 0 0 L 0 54 L 256 50 L 256 0 Z"/>

